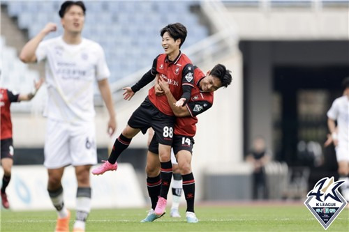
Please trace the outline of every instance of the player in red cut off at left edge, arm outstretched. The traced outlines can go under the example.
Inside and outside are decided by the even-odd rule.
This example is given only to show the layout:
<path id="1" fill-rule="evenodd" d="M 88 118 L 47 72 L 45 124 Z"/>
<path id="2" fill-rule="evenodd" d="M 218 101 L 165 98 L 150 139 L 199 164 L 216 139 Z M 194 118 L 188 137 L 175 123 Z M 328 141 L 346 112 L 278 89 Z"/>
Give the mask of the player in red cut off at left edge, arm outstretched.
<path id="1" fill-rule="evenodd" d="M 36 91 L 43 84 L 43 79 L 34 84 Z M 1 203 L 3 208 L 10 208 L 6 195 L 6 187 L 10 183 L 11 168 L 13 165 L 13 139 L 10 105 L 12 102 L 29 101 L 34 98 L 34 93 L 13 93 L 7 88 L 0 88 L 0 109 L 1 109 L 1 166 L 3 178 L 1 185 Z"/>

